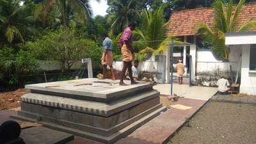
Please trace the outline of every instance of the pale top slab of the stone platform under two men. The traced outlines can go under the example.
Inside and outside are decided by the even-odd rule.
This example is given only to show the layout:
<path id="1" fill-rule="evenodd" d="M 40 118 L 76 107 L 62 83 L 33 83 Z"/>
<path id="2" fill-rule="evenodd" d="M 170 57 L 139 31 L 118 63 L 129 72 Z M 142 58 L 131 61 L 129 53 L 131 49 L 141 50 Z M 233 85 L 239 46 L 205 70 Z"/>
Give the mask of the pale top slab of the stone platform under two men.
<path id="1" fill-rule="evenodd" d="M 145 88 L 152 88 L 152 84 L 140 82 L 131 85 L 130 81 L 125 81 L 128 86 L 120 86 L 119 80 L 111 79 L 77 79 L 71 81 L 58 81 L 52 83 L 29 84 L 25 88 L 33 93 L 61 93 L 67 95 L 80 95 L 87 97 L 97 97 L 108 99 L 117 95 L 124 95 L 136 92 Z M 54 94 L 52 94 L 54 95 Z"/>

